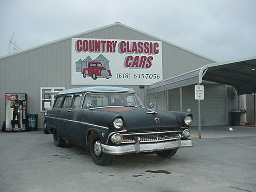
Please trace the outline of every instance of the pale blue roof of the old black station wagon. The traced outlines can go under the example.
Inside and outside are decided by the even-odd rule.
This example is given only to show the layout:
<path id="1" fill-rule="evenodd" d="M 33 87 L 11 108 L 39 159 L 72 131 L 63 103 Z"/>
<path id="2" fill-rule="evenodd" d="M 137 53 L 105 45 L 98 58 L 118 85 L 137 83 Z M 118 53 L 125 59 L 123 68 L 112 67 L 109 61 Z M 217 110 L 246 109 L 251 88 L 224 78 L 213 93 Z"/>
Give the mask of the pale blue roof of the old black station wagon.
<path id="1" fill-rule="evenodd" d="M 134 90 L 124 87 L 109 87 L 109 86 L 98 86 L 98 87 L 79 87 L 73 89 L 66 89 L 58 93 L 62 94 L 71 94 L 71 93 L 80 93 L 80 92 L 91 92 L 91 91 L 125 91 L 135 93 Z"/>

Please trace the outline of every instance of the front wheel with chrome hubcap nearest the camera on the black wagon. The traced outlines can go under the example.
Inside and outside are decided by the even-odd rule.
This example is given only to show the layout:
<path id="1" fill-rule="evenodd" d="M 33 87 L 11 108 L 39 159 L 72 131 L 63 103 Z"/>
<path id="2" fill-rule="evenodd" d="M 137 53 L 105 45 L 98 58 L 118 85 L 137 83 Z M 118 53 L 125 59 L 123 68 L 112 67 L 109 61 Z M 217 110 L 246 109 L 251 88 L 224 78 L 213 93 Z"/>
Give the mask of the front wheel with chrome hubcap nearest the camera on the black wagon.
<path id="1" fill-rule="evenodd" d="M 108 165 L 112 162 L 114 156 L 102 152 L 102 146 L 99 136 L 94 133 L 90 140 L 90 154 L 92 160 L 97 165 Z"/>

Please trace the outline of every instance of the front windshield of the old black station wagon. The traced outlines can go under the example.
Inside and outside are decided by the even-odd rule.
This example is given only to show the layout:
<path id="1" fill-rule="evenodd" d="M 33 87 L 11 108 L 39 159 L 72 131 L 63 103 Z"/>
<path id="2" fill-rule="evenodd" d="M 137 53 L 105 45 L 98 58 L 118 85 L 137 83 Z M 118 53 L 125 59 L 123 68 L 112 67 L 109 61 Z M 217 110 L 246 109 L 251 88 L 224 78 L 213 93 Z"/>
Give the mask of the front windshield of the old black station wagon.
<path id="1" fill-rule="evenodd" d="M 88 93 L 84 98 L 83 108 L 88 108 L 87 104 L 91 103 L 92 107 L 104 106 L 142 106 L 137 94 L 121 92 L 95 92 Z"/>

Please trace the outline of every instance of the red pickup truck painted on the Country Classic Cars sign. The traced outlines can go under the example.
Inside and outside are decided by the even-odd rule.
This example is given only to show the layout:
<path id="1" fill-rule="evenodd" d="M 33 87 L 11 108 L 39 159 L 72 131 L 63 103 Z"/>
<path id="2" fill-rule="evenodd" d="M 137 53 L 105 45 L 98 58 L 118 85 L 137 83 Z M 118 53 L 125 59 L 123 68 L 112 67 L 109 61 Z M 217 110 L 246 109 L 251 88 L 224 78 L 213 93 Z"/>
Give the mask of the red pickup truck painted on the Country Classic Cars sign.
<path id="1" fill-rule="evenodd" d="M 87 66 L 87 68 L 83 68 L 82 70 L 84 78 L 86 78 L 86 76 L 89 76 L 92 77 L 93 80 L 96 80 L 97 78 L 109 79 L 112 77 L 111 70 L 107 70 L 105 67 L 102 66 L 100 62 L 91 61 L 88 62 Z"/>

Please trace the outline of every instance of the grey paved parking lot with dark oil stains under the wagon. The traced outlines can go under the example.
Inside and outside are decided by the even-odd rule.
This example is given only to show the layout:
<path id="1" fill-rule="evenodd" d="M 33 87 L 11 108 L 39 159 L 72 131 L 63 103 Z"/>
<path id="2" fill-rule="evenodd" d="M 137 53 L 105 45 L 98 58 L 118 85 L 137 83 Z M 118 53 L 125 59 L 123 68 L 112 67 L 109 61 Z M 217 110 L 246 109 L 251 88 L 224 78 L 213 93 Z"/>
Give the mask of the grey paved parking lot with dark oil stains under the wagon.
<path id="1" fill-rule="evenodd" d="M 0 191 L 255 192 L 256 128 L 233 128 L 202 128 L 172 158 L 127 154 L 109 166 L 71 144 L 56 147 L 43 131 L 1 132 Z"/>

